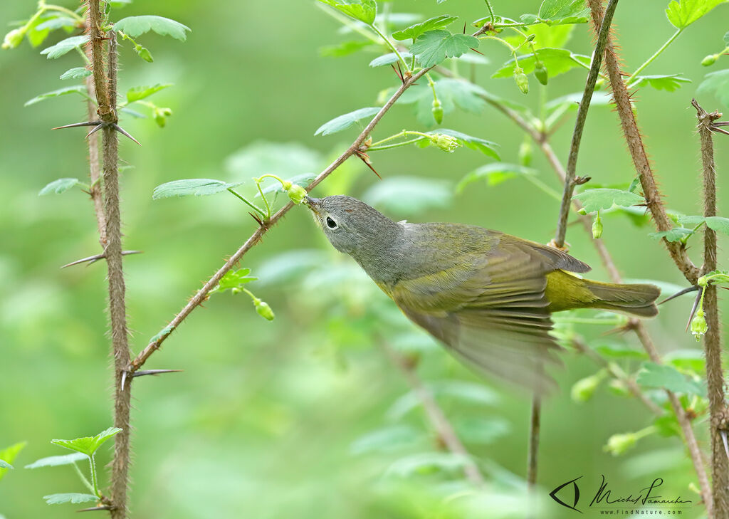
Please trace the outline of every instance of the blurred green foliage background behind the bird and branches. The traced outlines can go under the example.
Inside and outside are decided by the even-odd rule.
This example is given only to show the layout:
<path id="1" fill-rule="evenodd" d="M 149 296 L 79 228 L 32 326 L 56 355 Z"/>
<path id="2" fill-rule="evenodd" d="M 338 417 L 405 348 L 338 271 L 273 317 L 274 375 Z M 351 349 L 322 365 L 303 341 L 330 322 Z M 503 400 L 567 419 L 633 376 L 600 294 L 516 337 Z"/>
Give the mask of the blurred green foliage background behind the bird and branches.
<path id="1" fill-rule="evenodd" d="M 458 15 L 461 21 L 456 25 L 486 14 L 480 1 L 393 4 L 397 12 L 424 17 Z M 536 0 L 494 4 L 497 12 L 511 17 L 539 7 Z M 615 34 L 626 70 L 635 69 L 673 32 L 663 14 L 666 4 L 650 0 L 618 6 Z M 76 6 L 71 2 L 69 7 Z M 33 9 L 32 1 L 4 2 L 0 20 L 21 20 Z M 642 89 L 636 96 L 639 122 L 668 206 L 685 214 L 700 211 L 701 192 L 690 99 L 707 71 L 700 66 L 701 58 L 720 49 L 726 13 L 726 7 L 719 7 L 688 28 L 647 70 L 682 72 L 692 83 L 674 93 Z M 318 168 L 315 173 L 321 171 L 348 146 L 356 129 L 327 137 L 313 136 L 314 130 L 339 114 L 373 106 L 381 90 L 397 84 L 391 69 L 367 66 L 375 54 L 321 57 L 320 47 L 348 38 L 338 34 L 338 23 L 313 1 L 137 1 L 115 11 L 114 17 L 144 14 L 174 18 L 190 26 L 192 33 L 184 44 L 154 34 L 140 38 L 155 56 L 152 64 L 139 60 L 128 44 L 121 51 L 122 92 L 136 85 L 175 83 L 155 97 L 155 102 L 174 110 L 166 128 L 160 130 L 151 120 L 124 121 L 143 144 L 121 144 L 122 159 L 133 166 L 122 179 L 125 249 L 144 251 L 125 261 L 134 352 L 255 229 L 246 206 L 229 195 L 153 201 L 152 189 L 182 178 L 243 180 L 267 173 L 250 171 L 250 164 L 260 164 L 250 159 L 251 147 L 266 149 L 264 141 L 299 143 L 313 150 L 299 155 Z M 60 37 L 53 35 L 49 44 Z M 589 55 L 591 42 L 588 26 L 577 26 L 569 48 Z M 85 106 L 80 98 L 66 96 L 23 108 L 34 95 L 67 86 L 57 78 L 79 63 L 72 53 L 47 61 L 39 50 L 24 42 L 0 54 L 0 448 L 28 441 L 15 471 L 0 482 L 0 514 L 7 519 L 75 517 L 76 507 L 49 509 L 41 499 L 49 493 L 83 491 L 70 467 L 22 467 L 36 458 L 63 454 L 50 444 L 52 438 L 92 435 L 112 424 L 106 268 L 99 262 L 59 269 L 98 252 L 93 208 L 77 190 L 37 195 L 54 179 L 87 175 L 83 130 L 50 131 L 82 120 Z M 536 104 L 539 85 L 533 77 L 529 96 L 521 95 L 512 79 L 490 79 L 508 58 L 503 47 L 486 42 L 480 52 L 491 60 L 491 65 L 477 69 L 481 86 Z M 582 69 L 557 77 L 548 95 L 581 91 L 584 78 Z M 699 101 L 708 110 L 720 108 L 710 95 Z M 517 161 L 523 136 L 490 107 L 481 114 L 448 114 L 444 125 L 496 141 L 502 160 Z M 405 127 L 429 129 L 416 122 L 411 106 L 396 106 L 378 126 L 375 139 Z M 569 120 L 554 138 L 562 160 L 571 129 Z M 720 192 L 729 188 L 722 175 L 729 163 L 725 140 L 717 138 Z M 243 160 L 230 160 L 244 148 L 249 152 Z M 281 163 L 289 152 L 291 147 L 274 148 L 267 156 L 276 155 Z M 438 179 L 448 187 L 444 192 L 451 193 L 445 203 L 417 214 L 381 207 L 391 216 L 467 222 L 542 242 L 553 235 L 558 203 L 521 179 L 496 187 L 472 184 L 463 194 L 452 194 L 464 174 L 491 162 L 477 152 L 459 149 L 450 155 L 408 147 L 373 154 L 373 160 L 384 179 Z M 537 149 L 533 165 L 540 179 L 561 190 Z M 634 177 L 617 116 L 609 107 L 596 106 L 590 112 L 578 173 L 589 174 L 599 184 L 630 182 Z M 359 161 L 350 160 L 314 193 L 346 190 L 362 196 L 378 182 Z M 147 363 L 149 368 L 184 372 L 136 381 L 133 517 L 518 516 L 529 396 L 499 381 L 480 380 L 398 319 L 356 265 L 330 249 L 307 212 L 294 208 L 241 265 L 260 276 L 248 286 L 270 303 L 276 320 L 257 316 L 243 295 L 212 297 Z M 682 284 L 663 246 L 647 238 L 650 229 L 634 227 L 623 217 L 606 217 L 604 223 L 604 241 L 626 278 Z M 607 280 L 590 239 L 571 227 L 571 253 L 593 265 L 593 278 Z M 727 243 L 725 237 L 720 240 L 722 262 Z M 281 258 L 301 249 L 317 252 Z M 694 246 L 691 251 L 697 262 L 699 249 Z M 292 268 L 303 259 L 308 270 Z M 284 266 L 291 270 L 284 273 Z M 690 303 L 677 300 L 648 324 L 661 351 L 699 348 L 683 333 Z M 394 321 L 381 321 L 383 312 Z M 456 382 L 469 384 L 460 393 L 444 391 L 438 398 L 488 475 L 488 491 L 469 501 L 470 508 L 444 500 L 464 488 L 457 468 L 408 469 L 410 456 L 437 451 L 437 442 L 421 407 L 409 409 L 407 399 L 403 403 L 409 387 L 373 343 L 373 322 L 400 334 L 386 335 L 388 340 L 407 342 L 408 335 L 402 334 L 410 334 L 423 348 L 418 372 L 427 383 L 456 389 L 461 387 Z M 578 330 L 588 339 L 600 339 L 606 331 Z M 629 335 L 625 340 L 634 343 Z M 680 494 L 697 502 L 698 496 L 688 489 L 695 480 L 693 469 L 676 437 L 649 437 L 621 458 L 603 452 L 610 435 L 642 429 L 652 417 L 634 399 L 615 397 L 604 389 L 582 405 L 572 402 L 572 384 L 597 368 L 572 353 L 564 360 L 566 367 L 557 374 L 561 391 L 545 402 L 539 460 L 543 496 L 574 477 L 583 475 L 593 484 L 604 474 L 626 490 L 663 477 L 665 495 Z M 705 425 L 697 425 L 704 447 Z M 379 440 L 366 436 L 378 431 Z M 104 463 L 109 453 L 104 447 Z M 684 516 L 698 517 L 700 509 Z M 564 517 L 563 510 L 549 502 L 543 516 Z"/>

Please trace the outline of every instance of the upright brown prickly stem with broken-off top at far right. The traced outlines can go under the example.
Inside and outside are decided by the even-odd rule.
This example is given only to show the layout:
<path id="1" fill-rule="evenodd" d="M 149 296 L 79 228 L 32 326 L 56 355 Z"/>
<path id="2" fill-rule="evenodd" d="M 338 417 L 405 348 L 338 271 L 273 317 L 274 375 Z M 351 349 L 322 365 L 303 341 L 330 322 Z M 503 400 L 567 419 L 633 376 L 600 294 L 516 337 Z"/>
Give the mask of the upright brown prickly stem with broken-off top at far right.
<path id="1" fill-rule="evenodd" d="M 712 123 L 721 117 L 711 114 L 699 106 L 695 99 L 691 104 L 696 109 L 698 134 L 701 137 L 701 164 L 703 166 L 703 216 L 717 216 L 717 173 L 714 165 L 714 142 Z M 717 233 L 708 225 L 703 230 L 703 267 L 706 274 L 717 268 Z M 717 287 L 709 284 L 703 295 L 703 312 L 708 329 L 703 336 L 703 351 L 706 356 L 706 383 L 709 389 L 709 412 L 711 413 L 712 437 L 712 492 L 714 513 L 717 518 L 729 512 L 729 459 L 724 450 L 722 432 L 727 429 L 727 405 L 724 395 L 724 373 L 722 371 L 722 341 L 717 305 Z M 724 433 L 726 434 L 726 433 Z"/>

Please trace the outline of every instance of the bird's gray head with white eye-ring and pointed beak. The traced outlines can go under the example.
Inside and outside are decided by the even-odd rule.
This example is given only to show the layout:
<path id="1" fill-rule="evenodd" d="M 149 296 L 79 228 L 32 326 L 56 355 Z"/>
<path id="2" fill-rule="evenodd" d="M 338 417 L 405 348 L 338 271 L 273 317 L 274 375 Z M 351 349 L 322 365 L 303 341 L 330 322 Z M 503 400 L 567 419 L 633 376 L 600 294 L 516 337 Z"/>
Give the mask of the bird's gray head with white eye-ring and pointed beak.
<path id="1" fill-rule="evenodd" d="M 401 225 L 356 198 L 306 197 L 305 203 L 335 249 L 360 264 L 381 254 L 402 233 Z"/>

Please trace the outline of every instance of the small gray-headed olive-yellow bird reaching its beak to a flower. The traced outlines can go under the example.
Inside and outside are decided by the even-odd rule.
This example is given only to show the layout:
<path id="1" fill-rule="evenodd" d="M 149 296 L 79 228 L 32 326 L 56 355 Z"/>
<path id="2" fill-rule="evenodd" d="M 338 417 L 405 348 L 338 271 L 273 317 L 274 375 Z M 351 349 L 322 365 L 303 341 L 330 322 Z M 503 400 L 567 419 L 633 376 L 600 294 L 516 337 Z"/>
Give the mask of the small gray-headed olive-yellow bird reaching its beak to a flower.
<path id="1" fill-rule="evenodd" d="M 658 313 L 658 286 L 582 278 L 590 266 L 555 247 L 475 225 L 394 222 L 346 195 L 304 203 L 410 321 L 464 364 L 537 394 L 555 387 L 545 367 L 561 364 L 552 313 Z"/>

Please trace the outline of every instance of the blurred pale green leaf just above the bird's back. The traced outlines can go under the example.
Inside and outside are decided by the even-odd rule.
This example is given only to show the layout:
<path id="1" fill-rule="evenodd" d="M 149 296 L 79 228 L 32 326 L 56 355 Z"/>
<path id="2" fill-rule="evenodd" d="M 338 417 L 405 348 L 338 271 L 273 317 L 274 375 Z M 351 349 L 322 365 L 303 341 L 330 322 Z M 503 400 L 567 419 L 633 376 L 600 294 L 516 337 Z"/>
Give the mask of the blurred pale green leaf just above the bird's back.
<path id="1" fill-rule="evenodd" d="M 416 176 L 392 176 L 373 184 L 362 195 L 371 206 L 410 216 L 431 208 L 445 208 L 451 202 L 448 182 Z"/>

